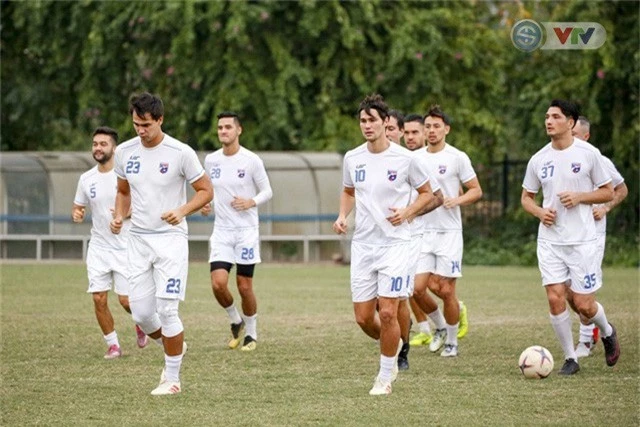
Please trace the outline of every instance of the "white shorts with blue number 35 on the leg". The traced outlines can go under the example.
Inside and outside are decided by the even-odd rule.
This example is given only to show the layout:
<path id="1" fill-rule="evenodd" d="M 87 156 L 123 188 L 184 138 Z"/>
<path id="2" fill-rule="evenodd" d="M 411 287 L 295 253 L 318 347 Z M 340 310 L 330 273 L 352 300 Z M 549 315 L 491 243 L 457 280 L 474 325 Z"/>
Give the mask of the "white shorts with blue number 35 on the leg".
<path id="1" fill-rule="evenodd" d="M 595 241 L 580 245 L 555 245 L 539 240 L 537 253 L 543 286 L 571 279 L 571 290 L 577 294 L 591 294 L 602 286 Z"/>

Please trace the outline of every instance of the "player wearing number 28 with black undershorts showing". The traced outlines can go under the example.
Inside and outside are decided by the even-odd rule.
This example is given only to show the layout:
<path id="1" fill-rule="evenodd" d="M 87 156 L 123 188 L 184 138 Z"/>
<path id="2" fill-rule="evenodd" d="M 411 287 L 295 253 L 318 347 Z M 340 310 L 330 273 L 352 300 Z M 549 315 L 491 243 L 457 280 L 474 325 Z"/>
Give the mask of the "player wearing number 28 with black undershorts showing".
<path id="1" fill-rule="evenodd" d="M 241 134 L 237 114 L 218 114 L 218 139 L 222 148 L 205 158 L 204 167 L 215 191 L 216 217 L 209 245 L 213 295 L 229 315 L 229 348 L 240 345 L 240 334 L 246 329 L 241 350 L 252 351 L 258 340 L 258 307 L 253 292 L 255 266 L 261 261 L 258 206 L 269 201 L 273 192 L 260 157 L 240 145 Z M 202 213 L 210 212 L 211 206 L 205 205 Z M 233 264 L 237 268 L 242 317 L 229 292 L 229 272 Z"/>

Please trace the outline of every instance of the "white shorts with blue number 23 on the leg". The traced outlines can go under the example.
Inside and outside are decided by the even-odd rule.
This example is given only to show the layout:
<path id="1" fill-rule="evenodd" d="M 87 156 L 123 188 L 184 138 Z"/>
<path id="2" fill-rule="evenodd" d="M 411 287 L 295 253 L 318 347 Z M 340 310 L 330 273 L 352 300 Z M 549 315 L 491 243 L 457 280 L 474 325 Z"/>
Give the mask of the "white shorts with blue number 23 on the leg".
<path id="1" fill-rule="evenodd" d="M 129 300 L 154 295 L 184 301 L 189 241 L 179 233 L 129 235 Z"/>

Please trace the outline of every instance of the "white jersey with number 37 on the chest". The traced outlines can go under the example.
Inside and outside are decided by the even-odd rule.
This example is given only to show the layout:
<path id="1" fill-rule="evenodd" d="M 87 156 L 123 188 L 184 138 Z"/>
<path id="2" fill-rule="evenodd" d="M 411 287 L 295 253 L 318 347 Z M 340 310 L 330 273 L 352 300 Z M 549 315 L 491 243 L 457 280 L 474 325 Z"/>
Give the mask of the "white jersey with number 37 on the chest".
<path id="1" fill-rule="evenodd" d="M 556 245 L 575 245 L 594 241 L 595 220 L 591 205 L 580 203 L 567 209 L 560 203 L 558 193 L 564 191 L 590 192 L 611 182 L 602 155 L 597 148 L 578 138 L 564 150 L 556 150 L 548 143 L 531 157 L 522 187 L 530 193 L 542 188 L 542 207 L 556 210 L 551 227 L 538 227 L 538 240 Z"/>

